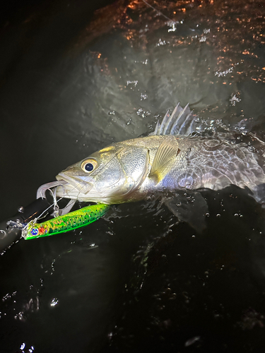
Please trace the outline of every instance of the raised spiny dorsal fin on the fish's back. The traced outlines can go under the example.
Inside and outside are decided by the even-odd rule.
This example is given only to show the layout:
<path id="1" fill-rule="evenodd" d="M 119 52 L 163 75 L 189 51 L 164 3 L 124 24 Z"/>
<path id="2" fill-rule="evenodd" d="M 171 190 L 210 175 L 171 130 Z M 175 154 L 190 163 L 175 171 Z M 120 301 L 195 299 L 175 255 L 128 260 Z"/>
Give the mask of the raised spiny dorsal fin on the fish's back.
<path id="1" fill-rule="evenodd" d="M 188 136 L 195 132 L 195 118 L 189 109 L 189 104 L 182 109 L 179 103 L 170 115 L 169 111 L 165 114 L 162 123 L 158 121 L 152 135 L 184 135 Z"/>

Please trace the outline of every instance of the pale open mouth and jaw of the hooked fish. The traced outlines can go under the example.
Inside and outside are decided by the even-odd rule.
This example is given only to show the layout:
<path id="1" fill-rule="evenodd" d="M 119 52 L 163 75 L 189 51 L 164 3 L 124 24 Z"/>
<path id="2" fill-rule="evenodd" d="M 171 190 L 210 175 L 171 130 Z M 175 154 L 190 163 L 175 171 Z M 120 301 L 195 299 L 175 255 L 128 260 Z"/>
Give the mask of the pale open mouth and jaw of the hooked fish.
<path id="1" fill-rule="evenodd" d="M 78 179 L 75 177 L 69 177 L 66 173 L 59 173 L 56 176 L 56 179 L 58 181 L 66 181 L 66 184 L 64 184 L 62 190 L 62 193 L 66 193 L 68 197 L 70 198 L 76 198 L 78 196 L 86 195 L 92 188 L 93 184 L 88 183 L 88 181 L 83 181 L 82 179 Z M 61 192 L 60 192 L 61 193 Z M 59 195 L 61 197 L 67 197 L 66 195 Z"/>

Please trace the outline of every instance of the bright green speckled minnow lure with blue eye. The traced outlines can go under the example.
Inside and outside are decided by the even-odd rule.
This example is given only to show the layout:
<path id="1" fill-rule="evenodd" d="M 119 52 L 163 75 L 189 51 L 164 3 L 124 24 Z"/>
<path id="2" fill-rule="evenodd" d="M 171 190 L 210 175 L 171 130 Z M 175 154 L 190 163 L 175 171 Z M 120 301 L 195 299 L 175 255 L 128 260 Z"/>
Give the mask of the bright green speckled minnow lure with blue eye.
<path id="1" fill-rule="evenodd" d="M 46 222 L 35 223 L 35 221 L 32 221 L 23 229 L 22 236 L 25 240 L 28 240 L 69 232 L 69 230 L 84 227 L 95 222 L 95 220 L 105 215 L 109 208 L 110 205 L 100 203 L 67 213 L 67 215 L 55 217 Z"/>

